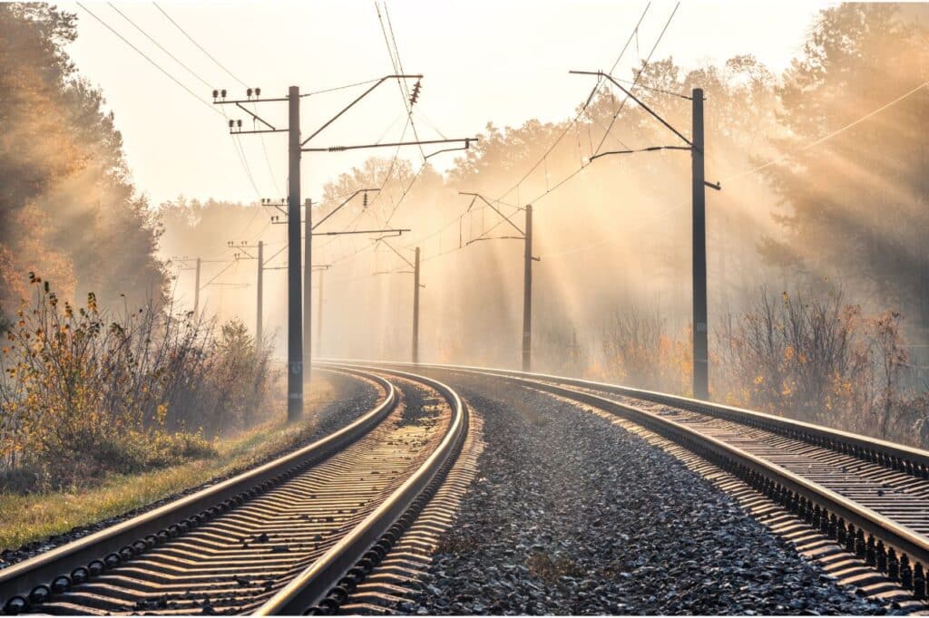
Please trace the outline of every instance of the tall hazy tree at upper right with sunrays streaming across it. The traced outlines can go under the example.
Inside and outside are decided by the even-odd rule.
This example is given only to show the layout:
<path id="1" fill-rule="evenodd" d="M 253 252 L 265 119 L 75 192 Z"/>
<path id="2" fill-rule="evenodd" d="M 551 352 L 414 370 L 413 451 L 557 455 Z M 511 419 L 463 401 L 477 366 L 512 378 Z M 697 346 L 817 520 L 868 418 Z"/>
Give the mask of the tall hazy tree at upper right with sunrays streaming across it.
<path id="1" fill-rule="evenodd" d="M 812 277 L 842 277 L 862 298 L 929 323 L 929 176 L 919 133 L 929 93 L 906 97 L 842 130 L 926 80 L 927 32 L 889 4 L 822 11 L 803 54 L 778 88 L 776 140 L 787 162 L 765 168 L 782 210 L 771 263 Z"/>

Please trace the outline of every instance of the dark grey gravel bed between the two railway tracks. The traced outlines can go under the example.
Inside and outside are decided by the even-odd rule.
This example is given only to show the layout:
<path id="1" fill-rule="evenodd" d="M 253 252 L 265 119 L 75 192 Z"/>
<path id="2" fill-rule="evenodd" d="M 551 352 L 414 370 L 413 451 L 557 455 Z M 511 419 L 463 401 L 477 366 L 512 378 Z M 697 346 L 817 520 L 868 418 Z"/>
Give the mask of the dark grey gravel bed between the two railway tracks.
<path id="1" fill-rule="evenodd" d="M 400 612 L 887 612 L 608 420 L 512 384 L 438 377 L 481 414 L 487 445 L 425 585 Z"/>

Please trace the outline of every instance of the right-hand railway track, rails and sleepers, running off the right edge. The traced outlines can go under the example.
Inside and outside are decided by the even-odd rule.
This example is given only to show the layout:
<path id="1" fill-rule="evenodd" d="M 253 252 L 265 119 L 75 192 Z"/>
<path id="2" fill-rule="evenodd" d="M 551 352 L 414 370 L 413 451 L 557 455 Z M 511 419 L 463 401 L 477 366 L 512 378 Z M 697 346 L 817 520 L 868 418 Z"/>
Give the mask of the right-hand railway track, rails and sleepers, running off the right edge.
<path id="1" fill-rule="evenodd" d="M 859 564 L 885 573 L 892 587 L 908 590 L 912 599 L 926 599 L 929 452 L 589 380 L 480 367 L 420 367 L 508 380 L 629 420 L 685 447 L 805 521 L 821 534 L 818 540 L 807 535 L 805 540 L 812 541 L 804 547 L 807 555 L 828 557 L 833 548 L 838 551 L 836 545 L 844 547 Z M 848 561 L 842 564 L 847 572 L 853 568 Z M 857 581 L 864 586 L 868 578 Z M 881 595 L 889 587 L 878 584 L 871 590 Z"/>

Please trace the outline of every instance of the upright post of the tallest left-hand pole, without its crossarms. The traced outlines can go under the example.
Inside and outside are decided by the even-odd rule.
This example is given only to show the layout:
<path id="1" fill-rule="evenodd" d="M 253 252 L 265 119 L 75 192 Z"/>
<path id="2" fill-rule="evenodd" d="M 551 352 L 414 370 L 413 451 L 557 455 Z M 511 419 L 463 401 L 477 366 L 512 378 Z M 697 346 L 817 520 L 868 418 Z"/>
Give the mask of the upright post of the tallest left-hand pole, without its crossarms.
<path id="1" fill-rule="evenodd" d="M 303 416 L 303 325 L 300 272 L 300 88 L 288 90 L 287 420 Z M 307 240 L 308 242 L 308 240 Z M 308 259 L 307 255 L 307 259 Z"/>

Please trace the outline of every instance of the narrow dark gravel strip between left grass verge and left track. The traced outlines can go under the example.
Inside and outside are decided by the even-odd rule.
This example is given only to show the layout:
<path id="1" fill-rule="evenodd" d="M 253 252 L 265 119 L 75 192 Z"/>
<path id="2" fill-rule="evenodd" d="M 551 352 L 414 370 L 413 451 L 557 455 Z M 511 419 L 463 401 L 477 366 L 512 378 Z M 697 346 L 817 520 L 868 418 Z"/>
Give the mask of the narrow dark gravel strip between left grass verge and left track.
<path id="1" fill-rule="evenodd" d="M 313 431 L 303 440 L 297 444 L 292 444 L 288 448 L 282 449 L 281 451 L 269 455 L 260 462 L 257 462 L 254 465 L 249 466 L 248 468 L 253 468 L 255 465 L 261 465 L 286 455 L 292 451 L 302 448 L 307 444 L 312 444 L 317 440 L 338 431 L 342 427 L 345 427 L 348 423 L 353 421 L 355 418 L 359 418 L 365 412 L 368 412 L 377 405 L 380 401 L 382 395 L 379 393 L 379 390 L 375 388 L 372 382 L 367 380 L 359 380 L 354 377 L 347 376 L 345 374 L 334 373 L 330 374 L 332 376 L 333 385 L 336 393 L 338 393 L 338 399 L 326 403 L 325 406 L 322 406 L 319 412 L 315 417 L 316 426 Z M 206 487 L 214 485 L 225 481 L 226 479 L 235 476 L 236 474 L 242 473 L 243 470 L 233 470 L 228 474 L 222 476 L 217 476 L 206 483 L 201 483 L 197 486 L 190 487 L 182 492 L 178 492 L 172 496 L 166 496 L 155 502 L 140 507 L 138 509 L 132 509 L 119 515 L 117 517 L 112 517 L 107 520 L 98 521 L 84 526 L 77 526 L 72 528 L 64 534 L 57 534 L 51 536 L 41 541 L 33 541 L 32 543 L 27 543 L 21 547 L 15 549 L 2 549 L 0 550 L 0 569 L 3 569 L 12 564 L 16 564 L 22 560 L 32 558 L 33 556 L 40 554 L 42 552 L 48 551 L 55 547 L 65 545 L 79 538 L 86 536 L 87 534 L 93 534 L 102 530 L 108 526 L 111 526 L 120 521 L 125 521 L 141 515 L 151 509 L 157 509 L 169 502 L 177 500 L 182 496 L 189 496 L 194 494 Z"/>

